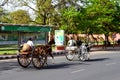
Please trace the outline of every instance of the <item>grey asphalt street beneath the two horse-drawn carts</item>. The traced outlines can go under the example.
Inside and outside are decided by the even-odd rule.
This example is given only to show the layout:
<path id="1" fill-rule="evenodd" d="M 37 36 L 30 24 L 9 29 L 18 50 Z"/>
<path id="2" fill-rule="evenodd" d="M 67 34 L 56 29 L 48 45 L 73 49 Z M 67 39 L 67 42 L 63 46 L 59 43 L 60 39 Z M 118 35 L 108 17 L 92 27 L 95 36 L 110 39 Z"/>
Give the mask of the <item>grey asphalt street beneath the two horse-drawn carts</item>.
<path id="1" fill-rule="evenodd" d="M 0 80 L 120 80 L 120 51 L 91 52 L 85 62 L 55 56 L 43 69 L 22 68 L 16 59 L 0 61 Z"/>

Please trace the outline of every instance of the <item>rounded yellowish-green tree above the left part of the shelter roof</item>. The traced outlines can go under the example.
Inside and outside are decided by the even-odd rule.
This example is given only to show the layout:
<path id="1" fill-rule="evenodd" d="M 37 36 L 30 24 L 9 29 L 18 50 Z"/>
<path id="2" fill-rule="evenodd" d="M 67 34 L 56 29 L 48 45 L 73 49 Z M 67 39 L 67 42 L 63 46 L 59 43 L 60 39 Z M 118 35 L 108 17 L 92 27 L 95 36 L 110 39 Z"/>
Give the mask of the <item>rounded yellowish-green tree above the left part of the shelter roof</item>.
<path id="1" fill-rule="evenodd" d="M 14 24 L 28 24 L 31 19 L 25 10 L 17 10 L 10 13 L 10 19 Z"/>

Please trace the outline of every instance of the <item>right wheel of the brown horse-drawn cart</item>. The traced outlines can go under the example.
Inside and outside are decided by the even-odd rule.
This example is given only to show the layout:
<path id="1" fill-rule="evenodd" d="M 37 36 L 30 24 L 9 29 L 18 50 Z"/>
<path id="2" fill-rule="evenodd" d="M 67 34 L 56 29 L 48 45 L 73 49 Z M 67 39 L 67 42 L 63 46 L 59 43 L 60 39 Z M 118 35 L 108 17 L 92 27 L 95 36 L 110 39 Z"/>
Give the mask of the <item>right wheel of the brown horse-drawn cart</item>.
<path id="1" fill-rule="evenodd" d="M 41 69 L 44 66 L 44 64 L 46 63 L 46 61 L 47 61 L 47 57 L 45 57 L 45 56 L 36 54 L 32 57 L 32 63 L 36 69 Z"/>

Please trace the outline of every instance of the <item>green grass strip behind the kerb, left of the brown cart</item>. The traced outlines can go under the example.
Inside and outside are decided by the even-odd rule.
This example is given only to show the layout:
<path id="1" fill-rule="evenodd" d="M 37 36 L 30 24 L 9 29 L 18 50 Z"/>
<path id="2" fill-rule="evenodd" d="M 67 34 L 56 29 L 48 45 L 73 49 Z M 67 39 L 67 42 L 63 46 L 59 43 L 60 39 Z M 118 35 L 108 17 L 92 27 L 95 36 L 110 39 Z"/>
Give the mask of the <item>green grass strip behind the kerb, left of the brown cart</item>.
<path id="1" fill-rule="evenodd" d="M 0 45 L 0 54 L 16 54 L 17 45 Z"/>

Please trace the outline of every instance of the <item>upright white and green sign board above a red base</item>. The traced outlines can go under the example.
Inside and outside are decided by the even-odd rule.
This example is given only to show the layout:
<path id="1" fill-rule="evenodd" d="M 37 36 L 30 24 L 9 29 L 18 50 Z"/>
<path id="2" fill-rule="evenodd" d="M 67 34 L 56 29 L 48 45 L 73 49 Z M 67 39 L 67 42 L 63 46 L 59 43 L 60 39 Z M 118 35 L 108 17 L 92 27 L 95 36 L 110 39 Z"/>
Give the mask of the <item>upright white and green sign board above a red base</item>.
<path id="1" fill-rule="evenodd" d="M 64 30 L 55 30 L 55 45 L 64 45 Z"/>

